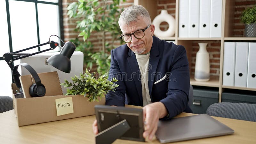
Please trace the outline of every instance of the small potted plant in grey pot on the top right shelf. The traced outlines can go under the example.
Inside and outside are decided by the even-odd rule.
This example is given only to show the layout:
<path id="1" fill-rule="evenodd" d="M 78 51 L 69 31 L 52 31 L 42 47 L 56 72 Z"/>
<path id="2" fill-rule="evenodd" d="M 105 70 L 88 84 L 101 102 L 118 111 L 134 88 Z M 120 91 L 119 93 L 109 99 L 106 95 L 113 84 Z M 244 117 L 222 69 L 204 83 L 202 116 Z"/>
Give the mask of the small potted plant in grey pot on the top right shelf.
<path id="1" fill-rule="evenodd" d="M 256 37 L 256 6 L 242 12 L 241 21 L 245 24 L 244 36 Z"/>

